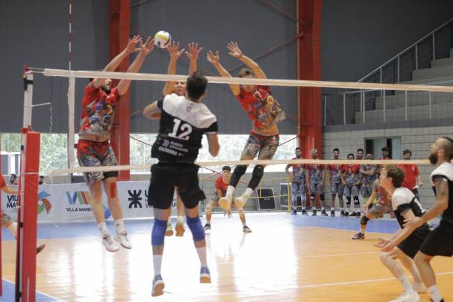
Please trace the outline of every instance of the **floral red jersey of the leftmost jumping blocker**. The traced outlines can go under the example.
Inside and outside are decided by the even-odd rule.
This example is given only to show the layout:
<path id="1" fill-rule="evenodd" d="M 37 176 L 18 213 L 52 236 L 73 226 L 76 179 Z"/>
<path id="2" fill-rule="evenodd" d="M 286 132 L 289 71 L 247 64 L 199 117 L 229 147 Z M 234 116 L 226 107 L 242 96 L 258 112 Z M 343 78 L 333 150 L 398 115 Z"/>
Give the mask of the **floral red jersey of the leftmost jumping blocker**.
<path id="1" fill-rule="evenodd" d="M 110 93 L 95 88 L 93 82 L 84 90 L 82 100 L 82 118 L 80 119 L 79 135 L 93 134 L 110 138 L 110 130 L 115 114 L 115 107 L 120 95 L 114 88 Z"/>

